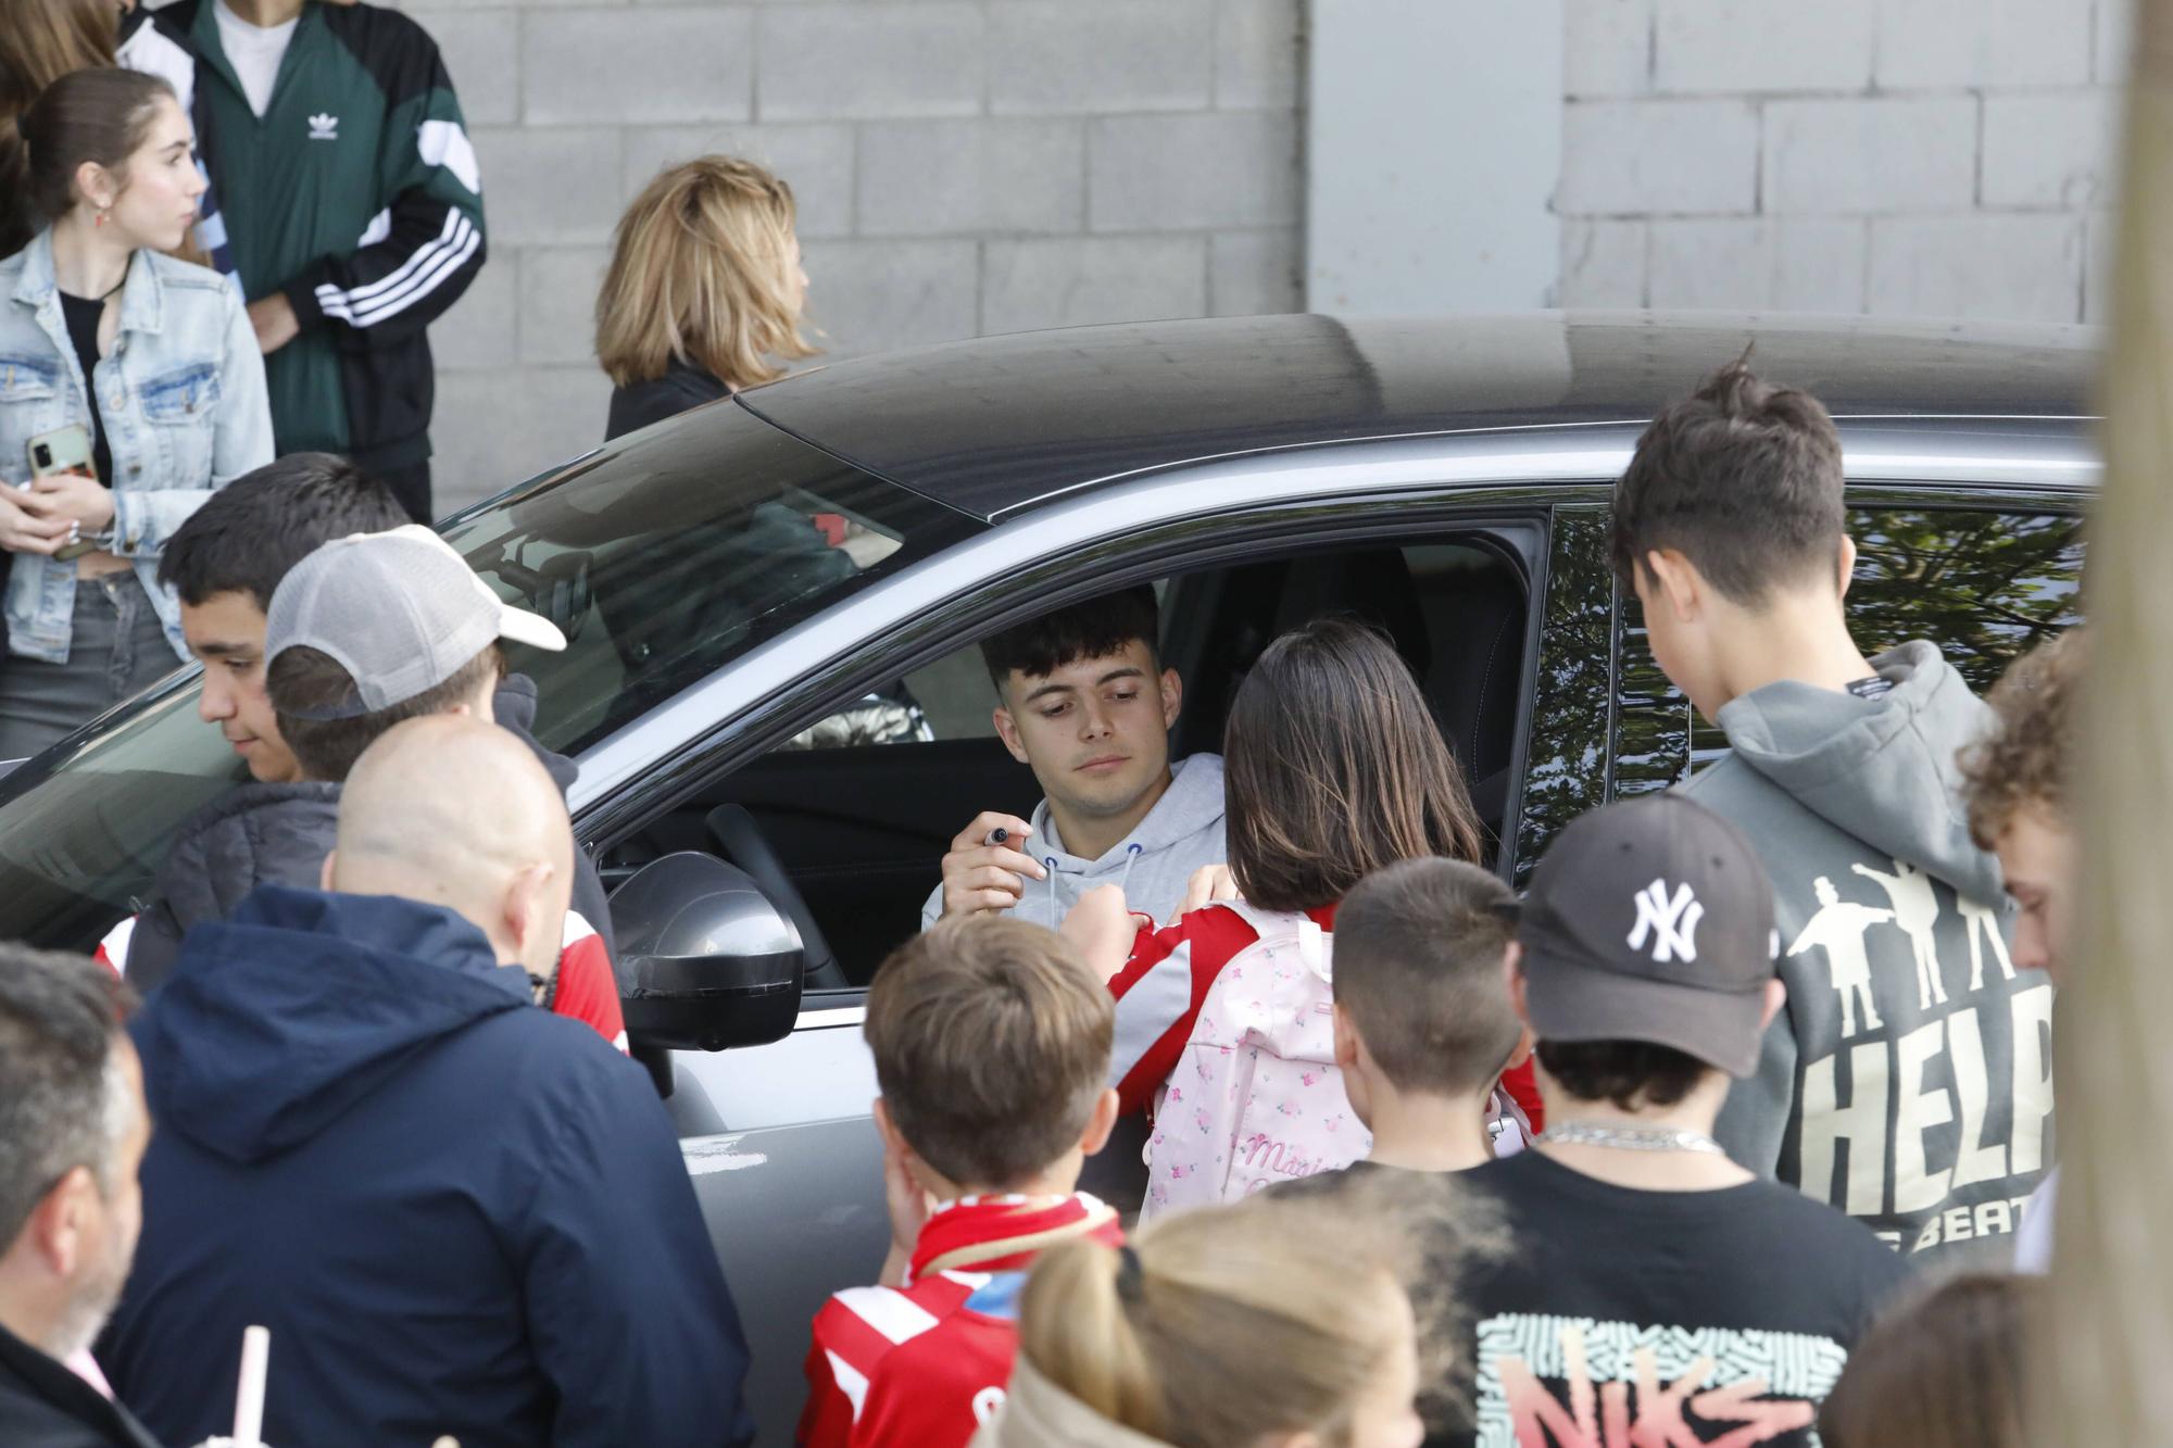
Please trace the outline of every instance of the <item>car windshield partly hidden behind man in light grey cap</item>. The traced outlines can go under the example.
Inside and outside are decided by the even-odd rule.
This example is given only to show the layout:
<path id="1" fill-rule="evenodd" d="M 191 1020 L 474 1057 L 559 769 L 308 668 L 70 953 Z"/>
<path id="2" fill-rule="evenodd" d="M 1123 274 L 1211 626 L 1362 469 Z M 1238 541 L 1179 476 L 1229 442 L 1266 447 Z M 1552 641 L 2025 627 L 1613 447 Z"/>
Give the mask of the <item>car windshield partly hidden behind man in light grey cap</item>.
<path id="1" fill-rule="evenodd" d="M 441 528 L 567 635 L 506 654 L 535 735 L 578 754 L 974 522 L 724 404 Z M 176 681 L 0 778 L 0 939 L 83 950 L 150 898 L 180 822 L 246 778 L 196 698 Z"/>

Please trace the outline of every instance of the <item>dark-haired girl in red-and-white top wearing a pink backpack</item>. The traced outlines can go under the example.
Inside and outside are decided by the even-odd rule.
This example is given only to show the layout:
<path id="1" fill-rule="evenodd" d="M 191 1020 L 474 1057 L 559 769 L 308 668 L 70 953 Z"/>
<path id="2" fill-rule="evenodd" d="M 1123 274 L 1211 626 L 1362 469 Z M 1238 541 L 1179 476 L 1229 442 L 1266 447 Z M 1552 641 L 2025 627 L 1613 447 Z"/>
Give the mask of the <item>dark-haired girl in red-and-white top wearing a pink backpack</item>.
<path id="1" fill-rule="evenodd" d="M 1154 1102 L 1195 1026 L 1210 1031 L 1202 1011 L 1210 987 L 1236 957 L 1273 944 L 1263 931 L 1289 926 L 1299 941 L 1308 926 L 1334 931 L 1336 902 L 1367 874 L 1430 854 L 1475 863 L 1482 852 L 1462 770 L 1419 683 L 1382 635 L 1347 620 L 1319 620 L 1267 646 L 1230 704 L 1223 776 L 1228 887 L 1195 881 L 1186 904 L 1197 909 L 1163 928 L 1128 915 L 1115 885 L 1089 891 L 1065 918 L 1065 935 L 1117 996 L 1110 1074 L 1130 1111 Z M 1208 904 L 1206 894 L 1241 898 Z M 1308 961 L 1304 946 L 1289 957 Z M 1345 1141 L 1365 1152 L 1356 1124 Z M 1308 1165 L 1343 1163 L 1308 1154 Z M 1156 1204 L 1167 1194 L 1150 1189 Z"/>

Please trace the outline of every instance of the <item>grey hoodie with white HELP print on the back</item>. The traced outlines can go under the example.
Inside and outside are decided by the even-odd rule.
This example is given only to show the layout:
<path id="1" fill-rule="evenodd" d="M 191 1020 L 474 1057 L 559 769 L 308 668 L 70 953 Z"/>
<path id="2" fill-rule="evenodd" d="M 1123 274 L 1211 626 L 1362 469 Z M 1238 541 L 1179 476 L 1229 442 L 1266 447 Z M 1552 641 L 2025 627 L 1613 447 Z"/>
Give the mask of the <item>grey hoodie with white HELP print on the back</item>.
<path id="1" fill-rule="evenodd" d="M 1764 857 L 1788 985 L 1717 1135 L 1919 1261 L 2004 1265 L 2051 1157 L 2051 985 L 2008 961 L 1999 863 L 1956 798 L 1986 707 L 1932 644 L 1873 665 L 1884 698 L 1732 700 L 1732 752 L 1682 785 Z"/>

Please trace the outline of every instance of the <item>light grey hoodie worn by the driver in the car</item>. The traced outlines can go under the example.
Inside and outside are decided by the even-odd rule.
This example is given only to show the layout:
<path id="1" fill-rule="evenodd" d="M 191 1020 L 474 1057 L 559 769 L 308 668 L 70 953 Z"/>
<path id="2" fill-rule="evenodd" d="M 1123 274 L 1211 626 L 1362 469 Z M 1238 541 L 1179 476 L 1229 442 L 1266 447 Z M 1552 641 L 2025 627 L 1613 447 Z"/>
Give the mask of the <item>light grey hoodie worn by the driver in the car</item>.
<path id="1" fill-rule="evenodd" d="M 1034 804 L 1028 824 L 1034 833 L 1026 850 L 1039 859 L 1047 881 L 1028 881 L 1017 904 L 1019 920 L 1058 926 L 1078 898 L 1095 885 L 1123 885 L 1126 904 L 1156 922 L 1169 920 L 1184 904 L 1184 887 L 1199 865 L 1221 865 L 1230 859 L 1221 824 L 1221 754 L 1193 754 L 1169 765 L 1169 789 L 1154 802 L 1147 817 L 1100 859 L 1080 859 L 1056 839 L 1050 824 L 1050 802 Z M 937 883 L 921 907 L 926 931 L 943 915 L 943 885 Z"/>

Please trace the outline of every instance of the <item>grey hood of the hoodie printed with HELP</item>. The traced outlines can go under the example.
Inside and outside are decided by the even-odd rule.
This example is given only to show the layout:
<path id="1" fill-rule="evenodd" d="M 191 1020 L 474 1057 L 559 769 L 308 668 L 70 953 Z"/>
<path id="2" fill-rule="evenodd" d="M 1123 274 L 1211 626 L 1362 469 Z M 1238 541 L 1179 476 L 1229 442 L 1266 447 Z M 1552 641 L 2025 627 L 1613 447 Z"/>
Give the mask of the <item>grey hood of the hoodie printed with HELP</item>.
<path id="1" fill-rule="evenodd" d="M 1956 754 L 1984 702 L 1921 639 L 1871 661 L 1884 698 L 1782 681 L 1721 707 L 1734 759 L 1834 828 L 1912 861 L 1973 900 L 1999 900 L 1999 863 L 1969 839 Z"/>

